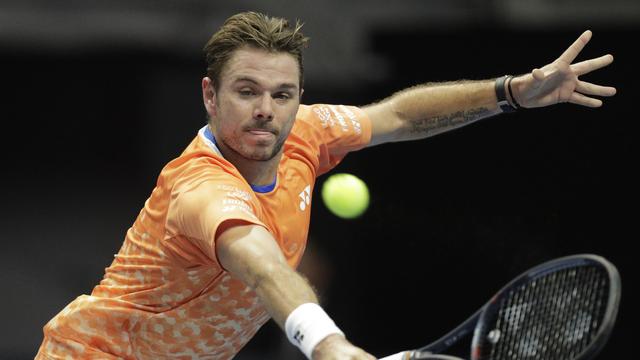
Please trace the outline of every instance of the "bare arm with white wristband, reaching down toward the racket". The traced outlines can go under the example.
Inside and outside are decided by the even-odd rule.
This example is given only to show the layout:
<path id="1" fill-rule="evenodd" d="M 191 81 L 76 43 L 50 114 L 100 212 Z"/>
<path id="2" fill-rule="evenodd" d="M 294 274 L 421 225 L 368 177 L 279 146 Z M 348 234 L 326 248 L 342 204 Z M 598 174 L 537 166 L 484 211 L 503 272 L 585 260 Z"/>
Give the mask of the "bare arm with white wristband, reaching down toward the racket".
<path id="1" fill-rule="evenodd" d="M 216 239 L 216 255 L 229 273 L 256 292 L 290 339 L 296 328 L 306 331 L 307 339 L 322 337 L 312 349 L 314 360 L 374 359 L 353 346 L 339 330 L 326 336 L 326 327 L 317 328 L 318 324 L 332 321 L 317 306 L 311 286 L 287 264 L 276 240 L 264 227 L 234 224 L 223 230 Z"/>

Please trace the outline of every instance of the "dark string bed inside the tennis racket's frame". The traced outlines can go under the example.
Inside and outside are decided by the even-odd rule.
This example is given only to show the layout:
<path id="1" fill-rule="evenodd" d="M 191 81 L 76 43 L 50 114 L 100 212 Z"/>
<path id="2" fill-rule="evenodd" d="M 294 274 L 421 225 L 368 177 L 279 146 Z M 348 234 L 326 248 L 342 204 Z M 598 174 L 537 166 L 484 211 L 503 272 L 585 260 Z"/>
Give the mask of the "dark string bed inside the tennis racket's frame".
<path id="1" fill-rule="evenodd" d="M 595 267 L 552 272 L 511 290 L 486 329 L 479 359 L 575 358 L 597 334 L 607 274 Z"/>

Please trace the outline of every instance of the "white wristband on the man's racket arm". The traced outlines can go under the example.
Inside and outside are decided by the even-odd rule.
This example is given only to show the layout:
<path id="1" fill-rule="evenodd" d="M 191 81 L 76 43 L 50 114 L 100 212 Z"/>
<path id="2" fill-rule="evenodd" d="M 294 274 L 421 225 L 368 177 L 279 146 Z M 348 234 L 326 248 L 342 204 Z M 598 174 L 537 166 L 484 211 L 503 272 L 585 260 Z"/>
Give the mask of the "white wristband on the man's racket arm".
<path id="1" fill-rule="evenodd" d="M 318 304 L 306 303 L 289 314 L 284 324 L 287 338 L 297 346 L 308 359 L 320 341 L 331 334 L 344 333 L 338 329 L 329 315 Z"/>

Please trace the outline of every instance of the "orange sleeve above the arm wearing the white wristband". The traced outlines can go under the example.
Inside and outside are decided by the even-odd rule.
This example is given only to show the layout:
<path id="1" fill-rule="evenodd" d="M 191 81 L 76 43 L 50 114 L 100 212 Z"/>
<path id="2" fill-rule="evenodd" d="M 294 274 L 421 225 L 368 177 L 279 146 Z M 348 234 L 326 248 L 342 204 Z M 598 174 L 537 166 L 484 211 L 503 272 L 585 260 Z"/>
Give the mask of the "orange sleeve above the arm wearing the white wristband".
<path id="1" fill-rule="evenodd" d="M 258 200 L 242 180 L 221 172 L 189 186 L 177 187 L 167 214 L 167 231 L 190 239 L 207 257 L 216 259 L 215 236 L 227 220 L 266 227 L 258 218 Z"/>

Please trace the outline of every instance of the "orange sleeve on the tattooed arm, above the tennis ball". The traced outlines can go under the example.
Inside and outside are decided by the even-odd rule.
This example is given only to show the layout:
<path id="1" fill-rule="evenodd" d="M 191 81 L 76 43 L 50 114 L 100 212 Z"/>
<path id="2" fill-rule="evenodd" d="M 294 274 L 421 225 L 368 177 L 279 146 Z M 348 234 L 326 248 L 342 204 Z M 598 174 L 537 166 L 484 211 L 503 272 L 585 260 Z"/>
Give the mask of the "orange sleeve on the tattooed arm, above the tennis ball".
<path id="1" fill-rule="evenodd" d="M 335 166 L 351 151 L 371 142 L 371 121 L 366 113 L 347 105 L 301 105 L 294 127 L 300 144 L 318 157 L 318 175 Z M 295 141 L 293 137 L 293 141 Z"/>

